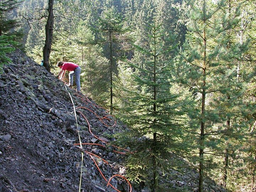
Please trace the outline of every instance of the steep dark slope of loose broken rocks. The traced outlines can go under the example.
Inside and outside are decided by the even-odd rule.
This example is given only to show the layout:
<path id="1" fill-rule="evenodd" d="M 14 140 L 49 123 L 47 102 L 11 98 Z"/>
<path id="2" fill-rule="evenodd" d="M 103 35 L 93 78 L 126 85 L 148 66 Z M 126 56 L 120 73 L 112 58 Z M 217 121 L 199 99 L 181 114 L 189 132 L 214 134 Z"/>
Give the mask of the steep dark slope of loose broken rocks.
<path id="1" fill-rule="evenodd" d="M 122 124 L 114 124 L 111 116 L 104 118 L 108 115 L 105 109 L 65 87 L 20 50 L 9 57 L 13 64 L 0 74 L 0 192 L 79 191 L 81 168 L 81 191 L 116 191 L 107 182 L 113 175 L 124 175 L 124 155 L 114 150 L 124 151 L 105 142 L 114 140 L 112 135 L 124 129 Z M 75 107 L 84 107 L 76 110 L 78 124 L 70 96 Z M 82 143 L 91 143 L 82 145 L 91 153 L 84 152 L 83 164 L 81 149 L 74 145 L 79 135 Z M 167 191 L 197 191 L 197 177 L 192 170 L 190 174 L 188 170 L 184 174 L 170 171 L 162 181 L 169 183 Z M 121 177 L 110 183 L 119 191 L 129 191 Z M 225 191 L 212 181 L 205 190 Z M 132 191 L 150 190 L 133 183 Z"/>

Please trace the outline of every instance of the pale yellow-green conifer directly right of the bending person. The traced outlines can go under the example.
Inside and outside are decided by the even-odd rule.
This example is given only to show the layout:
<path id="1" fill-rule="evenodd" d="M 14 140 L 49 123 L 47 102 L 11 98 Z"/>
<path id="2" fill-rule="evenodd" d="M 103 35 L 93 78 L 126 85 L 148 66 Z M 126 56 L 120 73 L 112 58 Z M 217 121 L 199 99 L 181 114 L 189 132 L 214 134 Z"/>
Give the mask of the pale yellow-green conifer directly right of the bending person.
<path id="1" fill-rule="evenodd" d="M 84 71 L 83 89 L 95 101 L 105 104 L 108 100 L 108 60 L 103 57 L 102 48 L 95 44 L 95 37 L 88 23 L 80 21 L 76 28 L 76 45 L 81 53 L 79 63 L 82 63 Z"/>

